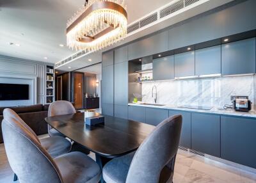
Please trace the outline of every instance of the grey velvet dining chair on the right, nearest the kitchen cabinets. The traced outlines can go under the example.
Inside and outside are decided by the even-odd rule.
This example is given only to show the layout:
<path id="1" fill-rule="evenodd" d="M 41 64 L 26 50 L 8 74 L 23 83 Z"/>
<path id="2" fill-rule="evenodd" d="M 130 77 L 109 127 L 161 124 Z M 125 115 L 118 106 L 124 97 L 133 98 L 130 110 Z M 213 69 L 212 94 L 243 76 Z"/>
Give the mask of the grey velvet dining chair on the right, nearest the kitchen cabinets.
<path id="1" fill-rule="evenodd" d="M 104 180 L 107 183 L 172 182 L 181 127 L 181 115 L 159 123 L 136 152 L 117 157 L 104 166 Z"/>

